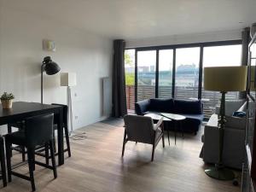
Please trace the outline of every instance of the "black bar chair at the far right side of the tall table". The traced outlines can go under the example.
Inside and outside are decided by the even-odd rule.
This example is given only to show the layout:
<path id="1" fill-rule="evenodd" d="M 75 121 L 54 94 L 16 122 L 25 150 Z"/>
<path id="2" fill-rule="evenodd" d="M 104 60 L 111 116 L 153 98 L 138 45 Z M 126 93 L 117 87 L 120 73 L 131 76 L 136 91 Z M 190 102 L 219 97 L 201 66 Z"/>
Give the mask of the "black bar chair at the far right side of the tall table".
<path id="1" fill-rule="evenodd" d="M 70 143 L 69 143 L 69 134 L 68 134 L 68 121 L 67 121 L 67 115 L 68 115 L 68 107 L 67 105 L 63 105 L 63 104 L 57 104 L 57 103 L 52 103 L 52 105 L 57 105 L 57 106 L 61 106 L 63 108 L 63 129 L 65 132 L 65 138 L 66 138 L 66 144 L 67 144 L 67 148 L 64 149 L 64 152 L 67 152 L 68 157 L 71 157 L 71 149 L 70 149 Z M 54 131 L 53 131 L 53 138 L 54 138 L 54 146 L 55 146 L 55 130 L 57 130 L 58 126 L 58 116 L 55 115 L 54 118 Z M 56 151 L 56 148 L 55 148 Z M 49 147 L 48 146 L 42 146 L 41 148 L 38 148 L 38 150 L 36 151 L 36 154 L 39 156 L 43 156 L 45 157 L 45 161 L 46 164 L 49 164 Z M 57 155 L 58 153 L 55 153 L 55 155 Z"/>

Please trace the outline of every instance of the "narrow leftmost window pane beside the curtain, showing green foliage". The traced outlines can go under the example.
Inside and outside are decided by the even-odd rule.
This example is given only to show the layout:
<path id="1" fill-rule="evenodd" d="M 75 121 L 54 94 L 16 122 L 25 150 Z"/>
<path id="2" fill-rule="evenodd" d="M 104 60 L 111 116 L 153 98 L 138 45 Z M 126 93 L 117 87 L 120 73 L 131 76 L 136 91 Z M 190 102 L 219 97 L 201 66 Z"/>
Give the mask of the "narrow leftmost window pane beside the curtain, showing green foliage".
<path id="1" fill-rule="evenodd" d="M 135 49 L 125 49 L 125 88 L 128 110 L 134 110 L 135 103 Z"/>

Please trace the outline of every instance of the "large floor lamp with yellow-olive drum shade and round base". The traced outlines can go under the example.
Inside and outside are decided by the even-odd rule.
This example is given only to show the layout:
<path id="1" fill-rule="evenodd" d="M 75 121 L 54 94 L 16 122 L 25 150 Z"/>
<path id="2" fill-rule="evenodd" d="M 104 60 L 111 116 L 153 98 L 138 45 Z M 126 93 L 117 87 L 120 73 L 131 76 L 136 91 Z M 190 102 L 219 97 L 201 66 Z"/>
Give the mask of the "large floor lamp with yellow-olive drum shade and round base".
<path id="1" fill-rule="evenodd" d="M 219 91 L 221 93 L 220 111 L 218 116 L 218 163 L 214 167 L 205 170 L 209 177 L 219 180 L 232 180 L 234 172 L 225 168 L 222 161 L 224 147 L 224 123 L 225 123 L 225 94 L 228 91 L 246 90 L 247 67 L 205 67 L 204 89 Z"/>

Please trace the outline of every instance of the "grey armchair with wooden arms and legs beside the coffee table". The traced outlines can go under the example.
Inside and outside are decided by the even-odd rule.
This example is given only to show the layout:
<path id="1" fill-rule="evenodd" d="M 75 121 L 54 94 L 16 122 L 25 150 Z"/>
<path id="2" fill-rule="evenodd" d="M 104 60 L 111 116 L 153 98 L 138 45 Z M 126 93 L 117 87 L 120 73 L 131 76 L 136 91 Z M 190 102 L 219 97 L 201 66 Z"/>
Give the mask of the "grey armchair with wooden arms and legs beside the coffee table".
<path id="1" fill-rule="evenodd" d="M 154 125 L 153 119 L 140 115 L 127 114 L 125 120 L 125 134 L 123 142 L 122 157 L 125 154 L 125 144 L 128 141 L 136 143 L 148 143 L 153 145 L 151 161 L 154 160 L 154 149 L 162 138 L 163 148 L 165 148 L 163 118 Z"/>

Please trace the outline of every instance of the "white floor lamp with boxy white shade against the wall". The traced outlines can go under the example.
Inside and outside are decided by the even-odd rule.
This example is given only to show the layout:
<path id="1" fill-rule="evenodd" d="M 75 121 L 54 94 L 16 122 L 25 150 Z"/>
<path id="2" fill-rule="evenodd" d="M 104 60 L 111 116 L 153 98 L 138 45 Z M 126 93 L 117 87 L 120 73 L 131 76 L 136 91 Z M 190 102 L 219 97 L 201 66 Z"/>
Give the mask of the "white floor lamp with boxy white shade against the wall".
<path id="1" fill-rule="evenodd" d="M 70 132 L 73 132 L 73 111 L 72 111 L 72 96 L 71 87 L 77 84 L 76 73 L 61 73 L 61 86 L 67 87 L 67 107 L 68 121 L 70 122 Z"/>

